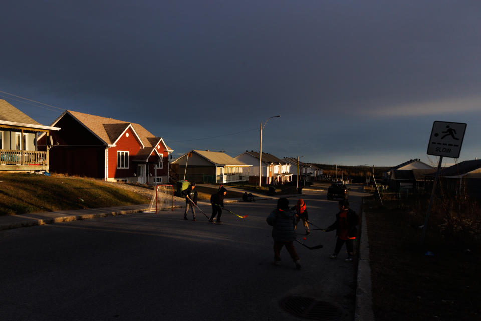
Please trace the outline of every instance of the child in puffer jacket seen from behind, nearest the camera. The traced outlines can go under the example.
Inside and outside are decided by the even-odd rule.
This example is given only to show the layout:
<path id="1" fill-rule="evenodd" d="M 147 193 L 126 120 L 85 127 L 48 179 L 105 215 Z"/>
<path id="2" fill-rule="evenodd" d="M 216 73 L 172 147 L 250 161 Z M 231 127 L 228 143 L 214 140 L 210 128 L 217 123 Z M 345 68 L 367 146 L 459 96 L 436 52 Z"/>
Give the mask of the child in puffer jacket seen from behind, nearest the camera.
<path id="1" fill-rule="evenodd" d="M 296 217 L 289 208 L 289 200 L 285 197 L 277 200 L 277 208 L 269 214 L 267 224 L 272 226 L 272 238 L 274 240 L 274 264 L 281 264 L 281 249 L 283 246 L 291 255 L 296 268 L 301 268 L 301 261 L 292 242 L 296 239 Z"/>

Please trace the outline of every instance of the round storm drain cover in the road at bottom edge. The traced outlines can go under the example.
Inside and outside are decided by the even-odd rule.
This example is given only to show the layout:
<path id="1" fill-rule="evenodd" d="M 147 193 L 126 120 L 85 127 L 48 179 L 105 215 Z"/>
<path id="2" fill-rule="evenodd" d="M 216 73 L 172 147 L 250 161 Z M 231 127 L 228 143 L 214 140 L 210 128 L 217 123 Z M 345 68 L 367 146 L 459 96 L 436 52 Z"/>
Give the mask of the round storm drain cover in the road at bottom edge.
<path id="1" fill-rule="evenodd" d="M 288 313 L 311 320 L 338 320 L 342 313 L 334 305 L 310 297 L 289 296 L 281 301 Z"/>

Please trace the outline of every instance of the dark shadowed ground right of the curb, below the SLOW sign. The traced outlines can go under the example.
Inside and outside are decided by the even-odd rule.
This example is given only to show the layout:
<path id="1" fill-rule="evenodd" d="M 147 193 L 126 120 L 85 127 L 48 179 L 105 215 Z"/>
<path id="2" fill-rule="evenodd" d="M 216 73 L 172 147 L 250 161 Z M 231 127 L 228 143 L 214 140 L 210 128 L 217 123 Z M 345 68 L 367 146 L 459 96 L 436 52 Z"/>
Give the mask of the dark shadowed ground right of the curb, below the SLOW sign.
<path id="1" fill-rule="evenodd" d="M 433 233 L 421 245 L 422 229 L 408 223 L 406 211 L 369 207 L 364 218 L 376 320 L 481 319 L 479 248 Z"/>

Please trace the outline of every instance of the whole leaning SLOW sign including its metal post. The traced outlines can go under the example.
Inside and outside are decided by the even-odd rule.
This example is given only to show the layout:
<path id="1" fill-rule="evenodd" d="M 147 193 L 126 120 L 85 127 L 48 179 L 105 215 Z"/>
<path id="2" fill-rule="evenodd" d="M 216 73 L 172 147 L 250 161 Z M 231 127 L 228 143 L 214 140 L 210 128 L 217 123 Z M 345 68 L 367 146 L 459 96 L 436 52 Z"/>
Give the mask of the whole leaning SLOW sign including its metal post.
<path id="1" fill-rule="evenodd" d="M 432 186 L 431 198 L 427 207 L 426 218 L 424 219 L 424 226 L 422 227 L 422 239 L 426 236 L 427 223 L 429 221 L 429 211 L 431 210 L 432 200 L 436 192 L 437 181 L 439 179 L 439 172 L 441 170 L 442 157 L 459 158 L 461 152 L 462 141 L 464 133 L 466 132 L 465 123 L 459 122 L 445 122 L 435 121 L 432 125 L 431 137 L 429 145 L 427 146 L 427 154 L 439 156 L 439 164 L 437 165 L 436 177 Z"/>

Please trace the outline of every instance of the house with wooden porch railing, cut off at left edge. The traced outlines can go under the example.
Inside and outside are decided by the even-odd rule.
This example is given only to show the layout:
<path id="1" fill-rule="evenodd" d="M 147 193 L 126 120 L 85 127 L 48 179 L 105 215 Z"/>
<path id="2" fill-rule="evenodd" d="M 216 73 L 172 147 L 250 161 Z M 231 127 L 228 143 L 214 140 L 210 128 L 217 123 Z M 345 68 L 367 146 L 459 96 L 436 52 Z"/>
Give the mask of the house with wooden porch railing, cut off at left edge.
<path id="1" fill-rule="evenodd" d="M 0 99 L 0 171 L 49 172 L 49 148 L 39 148 L 38 136 L 50 134 L 59 127 L 44 126 L 7 101 Z"/>

